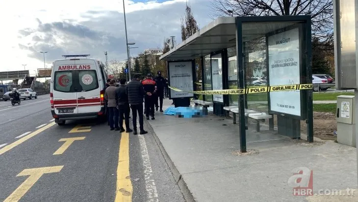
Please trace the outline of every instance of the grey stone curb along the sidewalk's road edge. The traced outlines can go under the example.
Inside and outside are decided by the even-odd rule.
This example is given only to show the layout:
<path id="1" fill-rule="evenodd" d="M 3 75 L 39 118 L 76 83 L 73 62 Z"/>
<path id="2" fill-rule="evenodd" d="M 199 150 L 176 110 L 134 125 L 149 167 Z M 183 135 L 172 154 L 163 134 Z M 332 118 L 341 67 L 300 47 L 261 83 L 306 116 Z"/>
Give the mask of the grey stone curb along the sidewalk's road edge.
<path id="1" fill-rule="evenodd" d="M 179 173 L 177 167 L 175 166 L 175 164 L 173 163 L 173 161 L 170 159 L 168 153 L 165 151 L 163 144 L 160 142 L 158 136 L 155 134 L 152 125 L 148 122 L 148 120 L 144 120 L 144 122 L 146 123 L 148 129 L 150 130 L 150 132 L 152 133 L 152 136 L 156 142 L 156 144 L 159 146 L 159 149 L 164 157 L 164 160 L 167 162 L 170 171 L 172 172 L 175 181 L 177 182 L 179 189 L 181 191 L 181 193 L 183 194 L 184 200 L 186 202 L 196 202 L 194 199 L 193 194 L 190 192 L 188 186 L 186 185 L 186 182 L 184 181 L 182 175 Z"/>

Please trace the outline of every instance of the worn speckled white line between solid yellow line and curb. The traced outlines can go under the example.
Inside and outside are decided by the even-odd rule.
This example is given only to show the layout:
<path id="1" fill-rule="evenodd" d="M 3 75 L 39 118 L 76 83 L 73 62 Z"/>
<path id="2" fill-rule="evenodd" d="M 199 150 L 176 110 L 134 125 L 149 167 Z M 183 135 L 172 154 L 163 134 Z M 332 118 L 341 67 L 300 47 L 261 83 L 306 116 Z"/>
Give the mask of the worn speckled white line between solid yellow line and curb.
<path id="1" fill-rule="evenodd" d="M 139 131 L 138 131 L 139 132 Z M 151 161 L 148 155 L 147 144 L 143 135 L 138 135 L 140 149 L 143 159 L 144 177 L 146 180 L 146 190 L 148 195 L 148 202 L 158 202 L 158 193 L 156 191 L 155 182 L 153 179 L 153 171 Z"/>

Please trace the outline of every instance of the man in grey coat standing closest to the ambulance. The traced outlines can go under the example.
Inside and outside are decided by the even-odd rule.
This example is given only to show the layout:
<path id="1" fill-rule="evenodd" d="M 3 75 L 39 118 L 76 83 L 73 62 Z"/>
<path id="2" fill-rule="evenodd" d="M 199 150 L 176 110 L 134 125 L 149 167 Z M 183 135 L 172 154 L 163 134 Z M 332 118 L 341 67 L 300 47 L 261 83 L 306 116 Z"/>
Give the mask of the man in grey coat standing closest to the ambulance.
<path id="1" fill-rule="evenodd" d="M 116 84 L 116 80 L 112 79 L 109 82 L 109 87 L 107 87 L 104 92 L 104 99 L 107 101 L 107 107 L 109 112 L 108 122 L 109 122 L 110 130 L 114 130 L 114 129 L 120 130 L 120 128 L 118 127 L 119 114 L 116 105 L 117 87 L 114 86 L 115 84 Z"/>

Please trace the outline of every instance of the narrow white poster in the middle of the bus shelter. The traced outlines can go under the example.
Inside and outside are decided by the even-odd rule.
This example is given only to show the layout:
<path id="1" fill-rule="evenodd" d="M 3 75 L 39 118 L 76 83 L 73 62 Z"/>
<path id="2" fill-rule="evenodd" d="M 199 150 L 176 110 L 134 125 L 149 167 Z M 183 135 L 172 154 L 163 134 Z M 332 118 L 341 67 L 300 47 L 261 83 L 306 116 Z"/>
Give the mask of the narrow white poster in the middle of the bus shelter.
<path id="1" fill-rule="evenodd" d="M 221 54 L 217 54 L 211 57 L 211 79 L 212 89 L 223 89 L 223 75 L 222 75 L 222 60 Z M 213 95 L 213 101 L 224 103 L 224 95 Z"/>

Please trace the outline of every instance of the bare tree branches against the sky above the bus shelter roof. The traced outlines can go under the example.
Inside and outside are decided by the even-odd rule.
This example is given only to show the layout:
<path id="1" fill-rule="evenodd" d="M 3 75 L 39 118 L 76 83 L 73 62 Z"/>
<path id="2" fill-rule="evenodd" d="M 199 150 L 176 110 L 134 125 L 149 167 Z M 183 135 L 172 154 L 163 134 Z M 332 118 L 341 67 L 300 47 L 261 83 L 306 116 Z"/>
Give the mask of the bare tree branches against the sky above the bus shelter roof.
<path id="1" fill-rule="evenodd" d="M 333 41 L 332 0 L 213 0 L 211 8 L 212 17 L 310 15 L 312 36 Z"/>

